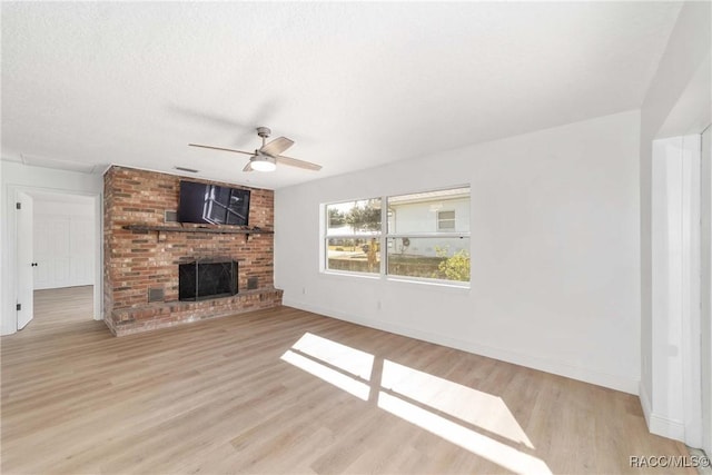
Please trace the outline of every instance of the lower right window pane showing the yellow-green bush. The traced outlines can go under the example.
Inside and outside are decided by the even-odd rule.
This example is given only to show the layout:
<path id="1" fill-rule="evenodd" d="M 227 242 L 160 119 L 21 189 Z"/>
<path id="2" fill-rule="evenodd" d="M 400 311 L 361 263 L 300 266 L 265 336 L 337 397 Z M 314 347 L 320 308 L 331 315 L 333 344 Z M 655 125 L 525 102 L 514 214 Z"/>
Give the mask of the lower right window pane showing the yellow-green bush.
<path id="1" fill-rule="evenodd" d="M 388 274 L 469 281 L 469 238 L 388 238 Z"/>

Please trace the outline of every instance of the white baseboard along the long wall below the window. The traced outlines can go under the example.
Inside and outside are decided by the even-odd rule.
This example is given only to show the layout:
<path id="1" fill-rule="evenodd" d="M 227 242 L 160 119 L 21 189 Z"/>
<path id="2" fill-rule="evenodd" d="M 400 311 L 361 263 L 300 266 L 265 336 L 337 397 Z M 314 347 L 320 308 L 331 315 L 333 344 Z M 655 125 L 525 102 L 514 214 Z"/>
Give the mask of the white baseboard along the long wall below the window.
<path id="1" fill-rule="evenodd" d="M 462 349 L 463 352 L 486 356 L 488 358 L 500 359 L 502 362 L 512 363 L 514 365 L 526 366 L 527 368 L 537 369 L 541 372 L 582 380 L 584 383 L 591 383 L 596 386 L 603 386 L 611 389 L 621 390 L 623 393 L 633 394 L 636 396 L 639 395 L 639 385 L 640 385 L 639 380 L 624 378 L 617 375 L 611 375 L 607 373 L 591 370 L 587 368 L 582 368 L 580 366 L 568 365 L 566 363 L 552 362 L 546 358 L 525 355 L 522 353 L 512 352 L 503 348 L 495 348 L 487 345 L 474 344 L 472 342 L 465 342 L 465 340 L 453 338 L 445 335 L 423 331 L 417 328 L 405 327 L 405 326 L 393 324 L 389 321 L 356 317 L 353 315 L 345 314 L 343 311 L 333 310 L 329 308 L 319 307 L 319 306 L 306 304 L 303 301 L 284 299 L 283 305 L 287 307 L 298 308 L 300 310 L 312 311 L 312 313 L 324 315 L 332 318 L 337 318 L 339 320 L 350 321 L 353 324 L 364 325 L 370 328 L 376 328 L 379 330 L 389 331 L 397 335 L 403 335 L 411 338 L 447 346 L 455 349 Z"/>

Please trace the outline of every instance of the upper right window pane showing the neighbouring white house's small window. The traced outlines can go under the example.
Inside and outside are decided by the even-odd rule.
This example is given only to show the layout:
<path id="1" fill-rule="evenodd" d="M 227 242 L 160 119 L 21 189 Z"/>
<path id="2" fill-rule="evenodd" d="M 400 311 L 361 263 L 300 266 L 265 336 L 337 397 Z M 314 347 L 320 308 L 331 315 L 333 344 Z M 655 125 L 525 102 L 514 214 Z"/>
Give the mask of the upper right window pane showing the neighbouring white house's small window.
<path id="1" fill-rule="evenodd" d="M 388 232 L 469 232 L 469 188 L 388 198 Z"/>

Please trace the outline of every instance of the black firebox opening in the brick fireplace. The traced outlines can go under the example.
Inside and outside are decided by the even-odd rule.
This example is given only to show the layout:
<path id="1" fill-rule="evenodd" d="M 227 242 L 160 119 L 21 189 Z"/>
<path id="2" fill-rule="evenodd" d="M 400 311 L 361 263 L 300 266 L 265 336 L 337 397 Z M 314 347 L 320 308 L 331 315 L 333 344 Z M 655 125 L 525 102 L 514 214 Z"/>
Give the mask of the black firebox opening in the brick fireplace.
<path id="1" fill-rule="evenodd" d="M 237 294 L 237 261 L 194 260 L 178 265 L 178 299 L 205 300 Z"/>

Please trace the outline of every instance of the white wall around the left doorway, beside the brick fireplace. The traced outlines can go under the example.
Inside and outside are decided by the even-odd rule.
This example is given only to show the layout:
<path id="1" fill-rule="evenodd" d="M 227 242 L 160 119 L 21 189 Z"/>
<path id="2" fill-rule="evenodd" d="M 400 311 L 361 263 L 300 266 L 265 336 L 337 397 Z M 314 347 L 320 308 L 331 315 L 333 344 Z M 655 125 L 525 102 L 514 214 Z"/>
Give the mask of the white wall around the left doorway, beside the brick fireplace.
<path id="1" fill-rule="evenodd" d="M 95 197 L 95 217 L 97 222 L 96 243 L 101 243 L 101 194 L 103 178 L 100 175 L 87 175 L 75 171 L 53 170 L 41 167 L 29 167 L 22 164 L 0 161 L 2 167 L 1 194 L 2 207 L 0 217 L 2 222 L 2 248 L 0 254 L 0 276 L 2 278 L 0 319 L 1 334 L 8 335 L 16 331 L 14 300 L 17 295 L 16 275 L 16 218 L 14 194 L 17 190 L 38 190 L 86 195 Z M 101 275 L 101 246 L 97 249 L 96 275 Z M 97 279 L 100 284 L 101 279 Z M 101 317 L 101 286 L 95 286 L 95 318 Z"/>

